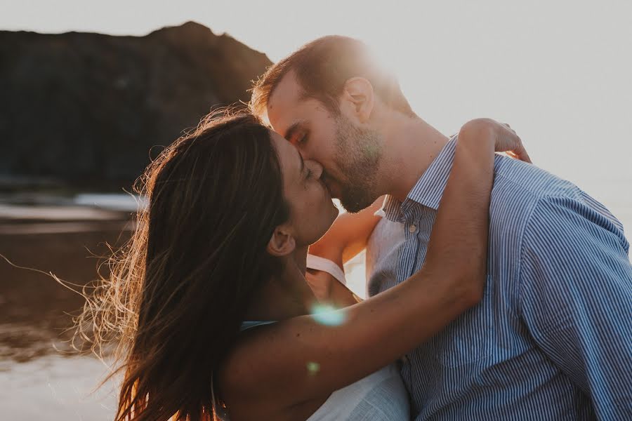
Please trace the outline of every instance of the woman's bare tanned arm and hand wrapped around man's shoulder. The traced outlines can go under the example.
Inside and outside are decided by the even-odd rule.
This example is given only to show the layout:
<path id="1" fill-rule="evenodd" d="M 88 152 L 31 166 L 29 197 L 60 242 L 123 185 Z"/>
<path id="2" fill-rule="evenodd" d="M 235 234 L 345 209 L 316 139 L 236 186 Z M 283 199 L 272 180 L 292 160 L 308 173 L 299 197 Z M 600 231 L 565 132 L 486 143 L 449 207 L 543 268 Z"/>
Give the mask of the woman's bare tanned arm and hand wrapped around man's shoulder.
<path id="1" fill-rule="evenodd" d="M 338 310 L 342 322 L 334 326 L 301 316 L 249 333 L 225 365 L 227 392 L 270 410 L 326 396 L 386 366 L 476 305 L 486 275 L 495 145 L 522 147 L 513 131 L 494 121 L 471 121 L 461 128 L 419 272 Z"/>

